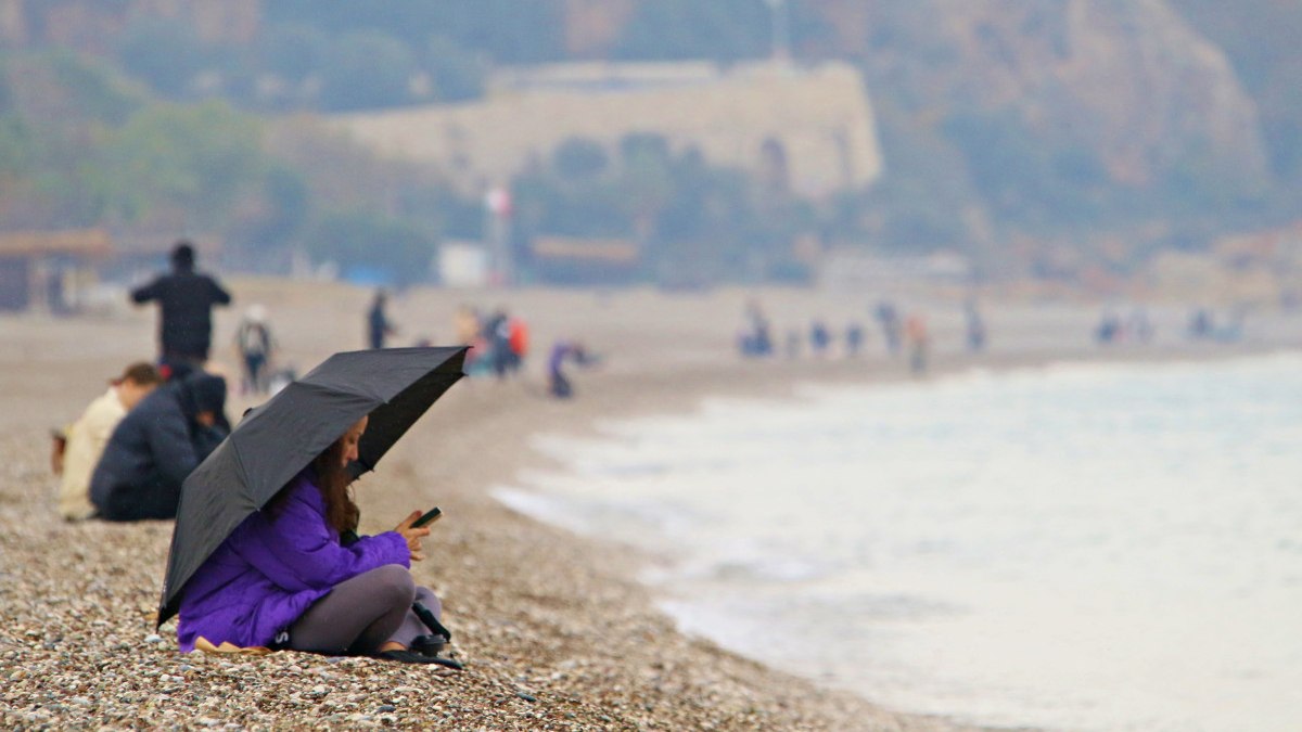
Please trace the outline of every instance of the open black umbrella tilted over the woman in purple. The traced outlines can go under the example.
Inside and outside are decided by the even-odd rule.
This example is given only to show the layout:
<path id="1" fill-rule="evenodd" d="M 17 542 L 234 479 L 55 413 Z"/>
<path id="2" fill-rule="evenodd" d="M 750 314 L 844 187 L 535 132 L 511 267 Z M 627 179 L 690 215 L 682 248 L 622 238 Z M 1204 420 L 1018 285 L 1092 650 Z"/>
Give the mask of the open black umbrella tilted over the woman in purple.
<path id="1" fill-rule="evenodd" d="M 391 348 L 336 353 L 254 408 L 181 486 L 159 625 L 176 615 L 181 589 L 230 531 L 370 415 L 352 466 L 359 475 L 464 374 L 466 349 Z"/>

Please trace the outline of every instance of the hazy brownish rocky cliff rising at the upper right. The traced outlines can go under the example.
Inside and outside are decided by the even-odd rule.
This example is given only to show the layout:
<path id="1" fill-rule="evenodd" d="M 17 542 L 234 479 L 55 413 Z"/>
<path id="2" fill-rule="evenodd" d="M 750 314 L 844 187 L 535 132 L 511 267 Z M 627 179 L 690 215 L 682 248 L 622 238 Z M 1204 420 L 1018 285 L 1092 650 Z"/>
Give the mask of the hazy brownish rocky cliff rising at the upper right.
<path id="1" fill-rule="evenodd" d="M 917 109 L 1012 112 L 1098 154 L 1115 182 L 1177 168 L 1266 176 L 1256 106 L 1165 0 L 810 0 L 836 52 Z M 885 92 L 885 90 L 878 90 Z"/>

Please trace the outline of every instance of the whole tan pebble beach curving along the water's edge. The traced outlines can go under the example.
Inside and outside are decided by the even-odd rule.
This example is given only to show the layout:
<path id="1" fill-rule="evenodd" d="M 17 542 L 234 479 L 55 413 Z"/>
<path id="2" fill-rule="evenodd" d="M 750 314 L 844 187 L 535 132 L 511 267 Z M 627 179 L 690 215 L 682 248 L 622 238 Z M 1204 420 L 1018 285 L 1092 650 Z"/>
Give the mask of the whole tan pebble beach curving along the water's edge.
<path id="1" fill-rule="evenodd" d="M 253 285 L 236 294 L 241 301 L 268 297 Z M 333 307 L 341 315 L 335 324 L 296 346 L 296 358 L 315 363 L 315 354 L 328 353 L 326 344 L 357 340 L 359 318 L 353 314 L 362 311 L 358 302 L 366 294 L 339 298 Z M 272 317 L 283 327 L 297 318 L 299 324 L 289 331 L 311 330 L 322 307 L 329 307 L 319 297 L 305 297 L 296 310 L 288 297 L 273 305 Z M 449 303 L 460 296 L 421 297 L 441 305 L 411 297 L 402 303 L 408 318 L 421 307 L 450 313 Z M 555 303 L 529 302 L 529 294 L 512 300 L 546 313 L 589 296 L 555 298 Z M 628 305 L 618 300 L 612 309 L 624 313 Z M 710 305 L 713 332 L 727 333 L 719 324 L 740 310 L 724 313 L 727 303 Z M 618 340 L 625 323 L 603 319 L 602 310 L 587 309 L 565 330 L 555 330 L 592 333 L 592 343 L 613 354 L 602 369 L 575 374 L 573 401 L 544 399 L 533 375 L 505 384 L 467 379 L 358 488 L 363 530 L 383 530 L 414 508 L 437 504 L 448 513 L 427 542 L 431 559 L 413 572 L 445 602 L 445 621 L 467 662 L 460 675 L 293 653 L 256 659 L 182 655 L 167 632 L 171 625 L 164 625 L 161 638 L 154 636 L 147 616 L 156 606 L 171 522 L 51 525 L 52 481 L 44 465 L 46 429 L 57 423 L 47 415 L 76 415 L 85 405 L 85 393 L 59 387 L 89 384 L 82 391 L 92 387 L 94 396 L 102 388 L 100 373 L 112 373 L 132 358 L 128 354 L 150 353 L 152 313 L 135 311 L 107 324 L 64 323 L 60 333 L 51 333 L 39 319 L 0 319 L 0 331 L 13 336 L 18 354 L 3 363 L 16 387 L 5 389 L 14 409 L 0 421 L 0 456 L 8 458 L 0 520 L 14 530 L 0 538 L 8 557 L 0 569 L 0 610 L 14 620 L 0 630 L 0 677 L 9 681 L 0 696 L 0 719 L 17 725 L 86 718 L 156 725 L 195 715 L 273 728 L 422 727 L 440 719 L 491 728 L 963 728 L 881 710 L 686 637 L 637 582 L 635 568 L 644 557 L 525 517 L 490 495 L 492 486 L 509 483 L 521 470 L 548 466 L 549 460 L 530 445 L 538 434 L 583 435 L 598 431 L 603 421 L 690 414 L 703 399 L 719 396 L 792 399 L 802 382 L 907 380 L 902 362 L 880 356 L 861 362 L 741 361 L 727 336 L 708 353 L 700 339 L 686 339 L 691 358 L 676 361 L 667 358 L 665 348 L 678 340 L 672 323 L 654 337 L 639 332 Z M 219 317 L 215 343 L 233 330 L 232 315 Z M 552 333 L 543 327 L 546 315 L 534 317 L 540 326 L 535 343 L 547 343 Z M 542 350 L 535 348 L 535 363 Z M 1160 353 L 1126 348 L 1094 359 L 1206 359 L 1262 350 L 1273 348 Z M 996 352 L 979 365 L 1005 370 L 1088 353 L 1083 348 L 1043 357 Z M 971 365 L 941 353 L 932 374 Z M 228 412 L 238 414 L 241 404 L 233 400 Z M 245 693 L 220 699 L 232 689 Z"/>

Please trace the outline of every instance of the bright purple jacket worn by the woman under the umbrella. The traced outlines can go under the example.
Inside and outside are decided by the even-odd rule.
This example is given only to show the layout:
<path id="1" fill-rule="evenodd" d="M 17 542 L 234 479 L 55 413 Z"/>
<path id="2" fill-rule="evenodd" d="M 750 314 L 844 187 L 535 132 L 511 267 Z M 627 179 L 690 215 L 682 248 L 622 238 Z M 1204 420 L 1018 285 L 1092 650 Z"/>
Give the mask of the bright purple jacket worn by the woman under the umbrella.
<path id="1" fill-rule="evenodd" d="M 410 568 L 396 531 L 340 546 L 312 478 L 310 470 L 296 475 L 275 517 L 245 518 L 186 582 L 176 629 L 182 651 L 199 636 L 217 646 L 270 646 L 335 585 L 385 564 Z"/>

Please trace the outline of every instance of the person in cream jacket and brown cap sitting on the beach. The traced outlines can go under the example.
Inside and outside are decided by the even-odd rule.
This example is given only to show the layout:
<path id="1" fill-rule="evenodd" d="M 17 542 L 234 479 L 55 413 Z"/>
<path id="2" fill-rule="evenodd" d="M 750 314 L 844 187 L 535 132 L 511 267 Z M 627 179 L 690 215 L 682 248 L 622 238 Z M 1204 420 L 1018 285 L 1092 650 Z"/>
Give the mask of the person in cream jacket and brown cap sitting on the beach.
<path id="1" fill-rule="evenodd" d="M 70 427 L 55 435 L 51 466 L 59 475 L 59 513 L 64 518 L 81 521 L 95 514 L 90 501 L 91 472 L 117 423 L 161 382 L 152 365 L 132 363 Z"/>

